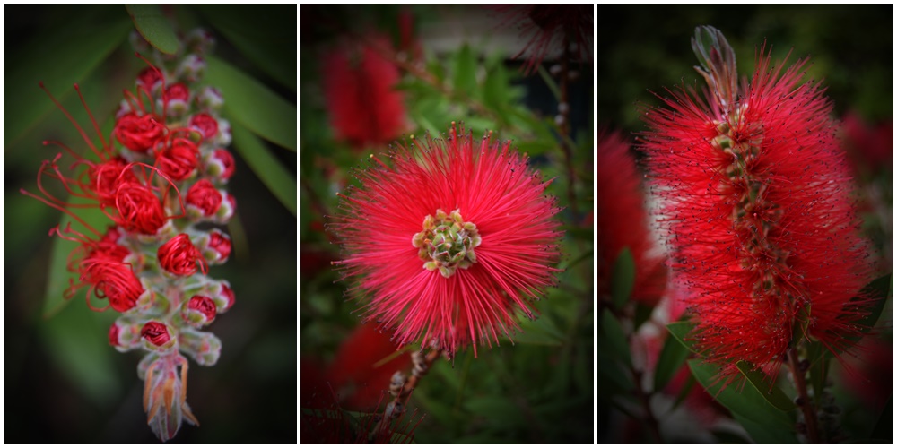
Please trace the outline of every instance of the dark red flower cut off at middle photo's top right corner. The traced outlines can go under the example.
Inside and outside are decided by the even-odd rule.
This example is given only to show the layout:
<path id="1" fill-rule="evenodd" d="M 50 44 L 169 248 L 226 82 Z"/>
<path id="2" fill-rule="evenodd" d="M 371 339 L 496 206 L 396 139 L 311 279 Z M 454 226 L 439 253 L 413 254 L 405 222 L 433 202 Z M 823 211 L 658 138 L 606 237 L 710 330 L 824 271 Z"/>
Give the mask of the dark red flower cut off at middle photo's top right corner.
<path id="1" fill-rule="evenodd" d="M 592 54 L 592 30 L 595 15 L 592 4 L 506 4 L 493 9 L 504 15 L 502 26 L 515 24 L 527 45 L 517 56 L 527 52 L 524 73 L 534 73 L 545 56 L 562 53 L 570 47 L 570 55 L 578 59 Z"/>

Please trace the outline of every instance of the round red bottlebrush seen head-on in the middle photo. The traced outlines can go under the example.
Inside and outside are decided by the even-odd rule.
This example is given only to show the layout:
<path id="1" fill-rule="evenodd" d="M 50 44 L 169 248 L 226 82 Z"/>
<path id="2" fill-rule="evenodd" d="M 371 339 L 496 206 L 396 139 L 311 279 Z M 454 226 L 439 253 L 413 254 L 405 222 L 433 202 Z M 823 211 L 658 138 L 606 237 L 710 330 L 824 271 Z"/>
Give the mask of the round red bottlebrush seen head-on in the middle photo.
<path id="1" fill-rule="evenodd" d="M 510 150 L 472 134 L 414 141 L 358 173 L 331 224 L 344 259 L 335 262 L 350 294 L 370 297 L 366 318 L 395 328 L 398 345 L 423 344 L 449 356 L 471 343 L 498 342 L 533 317 L 530 297 L 553 285 L 560 258 L 560 211 L 549 182 Z M 476 347 L 474 346 L 476 353 Z"/>

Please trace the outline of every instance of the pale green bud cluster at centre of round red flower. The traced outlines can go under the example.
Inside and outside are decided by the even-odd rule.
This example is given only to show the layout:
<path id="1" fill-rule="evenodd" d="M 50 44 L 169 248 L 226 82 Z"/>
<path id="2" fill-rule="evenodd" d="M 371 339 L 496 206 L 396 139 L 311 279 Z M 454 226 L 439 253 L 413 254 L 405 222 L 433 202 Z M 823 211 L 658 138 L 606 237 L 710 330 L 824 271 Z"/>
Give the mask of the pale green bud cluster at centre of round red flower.
<path id="1" fill-rule="evenodd" d="M 474 248 L 481 242 L 476 225 L 465 222 L 457 209 L 448 214 L 438 209 L 435 217 L 427 215 L 423 219 L 423 230 L 415 233 L 411 240 L 411 244 L 420 249 L 417 254 L 424 262 L 424 269 L 439 269 L 446 279 L 457 268 L 467 269 L 476 263 Z"/>

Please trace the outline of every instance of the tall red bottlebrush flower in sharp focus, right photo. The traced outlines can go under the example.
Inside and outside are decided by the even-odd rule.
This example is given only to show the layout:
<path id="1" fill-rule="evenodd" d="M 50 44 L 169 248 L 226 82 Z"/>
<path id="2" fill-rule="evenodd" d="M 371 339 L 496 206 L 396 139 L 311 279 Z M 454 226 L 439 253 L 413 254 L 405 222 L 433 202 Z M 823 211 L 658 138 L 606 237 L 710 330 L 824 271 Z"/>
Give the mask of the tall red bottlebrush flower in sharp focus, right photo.
<path id="1" fill-rule="evenodd" d="M 665 202 L 672 269 L 696 314 L 693 337 L 724 376 L 738 360 L 779 366 L 798 325 L 844 349 L 865 314 L 851 297 L 869 267 L 832 103 L 801 82 L 806 60 L 783 71 L 763 48 L 739 88 L 731 47 L 704 30 L 710 54 L 701 29 L 692 47 L 706 99 L 670 91 L 666 108 L 645 111 L 642 145 Z"/>

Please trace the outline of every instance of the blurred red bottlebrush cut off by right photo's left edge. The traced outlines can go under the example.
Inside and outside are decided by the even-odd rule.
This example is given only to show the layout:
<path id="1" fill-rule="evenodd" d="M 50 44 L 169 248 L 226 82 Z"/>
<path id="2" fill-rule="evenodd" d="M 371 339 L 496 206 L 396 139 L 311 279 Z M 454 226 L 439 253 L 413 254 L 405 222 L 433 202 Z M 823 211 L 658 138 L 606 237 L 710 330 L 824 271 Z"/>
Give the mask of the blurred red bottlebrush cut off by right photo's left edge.
<path id="1" fill-rule="evenodd" d="M 651 239 L 640 173 L 622 135 L 598 136 L 596 168 L 598 289 L 609 294 L 614 263 L 628 247 L 636 268 L 631 298 L 657 305 L 666 287 L 666 266 Z"/>

